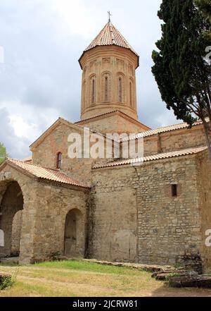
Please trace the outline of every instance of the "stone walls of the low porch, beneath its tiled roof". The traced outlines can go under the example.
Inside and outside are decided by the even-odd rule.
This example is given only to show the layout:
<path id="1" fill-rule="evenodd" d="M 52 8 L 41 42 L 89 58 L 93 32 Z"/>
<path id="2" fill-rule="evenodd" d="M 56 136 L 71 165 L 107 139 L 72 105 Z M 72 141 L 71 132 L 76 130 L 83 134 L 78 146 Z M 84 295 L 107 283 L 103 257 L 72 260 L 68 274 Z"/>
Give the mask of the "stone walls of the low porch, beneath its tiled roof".
<path id="1" fill-rule="evenodd" d="M 22 201 L 19 202 L 21 194 L 23 194 Z M 0 246 L 1 257 L 11 255 L 13 217 L 21 206 L 23 221 L 20 235 L 20 263 L 39 262 L 49 260 L 56 254 L 63 255 L 65 219 L 72 209 L 78 210 L 82 215 L 77 226 L 75 248 L 77 255 L 83 257 L 87 227 L 87 196 L 87 190 L 60 186 L 57 183 L 41 183 L 6 165 L 0 173 L 0 199 L 2 198 L 0 209 L 3 213 L 0 216 L 0 228 L 5 233 L 5 246 Z"/>

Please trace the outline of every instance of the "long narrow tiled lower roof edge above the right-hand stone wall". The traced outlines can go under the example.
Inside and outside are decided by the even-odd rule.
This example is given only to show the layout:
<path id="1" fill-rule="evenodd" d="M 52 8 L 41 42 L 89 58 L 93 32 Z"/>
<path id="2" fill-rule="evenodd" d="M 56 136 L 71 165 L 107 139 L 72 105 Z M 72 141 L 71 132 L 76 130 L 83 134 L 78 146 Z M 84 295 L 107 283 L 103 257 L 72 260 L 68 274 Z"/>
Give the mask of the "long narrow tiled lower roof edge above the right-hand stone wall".
<path id="1" fill-rule="evenodd" d="M 137 165 L 138 166 L 139 164 L 143 162 L 156 161 L 156 160 L 161 160 L 161 159 L 170 159 L 174 157 L 182 157 L 188 154 L 197 154 L 198 152 L 202 152 L 204 150 L 207 150 L 207 147 L 189 148 L 189 149 L 178 150 L 174 152 L 155 154 L 152 156 L 142 157 L 142 158 L 137 158 L 137 159 L 126 159 L 126 160 L 108 162 L 106 164 L 94 165 L 92 169 L 104 169 L 104 168 L 122 166 L 122 165 L 133 165 L 133 166 Z"/>

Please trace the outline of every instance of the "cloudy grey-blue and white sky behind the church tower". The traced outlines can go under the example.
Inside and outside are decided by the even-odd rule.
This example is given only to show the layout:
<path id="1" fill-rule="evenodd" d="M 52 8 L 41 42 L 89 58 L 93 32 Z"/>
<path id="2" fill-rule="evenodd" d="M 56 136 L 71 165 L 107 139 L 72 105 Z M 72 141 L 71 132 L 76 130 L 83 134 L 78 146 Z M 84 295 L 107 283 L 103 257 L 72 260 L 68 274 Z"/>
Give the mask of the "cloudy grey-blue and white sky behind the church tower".
<path id="1" fill-rule="evenodd" d="M 79 120 L 82 51 L 112 22 L 140 55 L 139 119 L 152 128 L 176 123 L 151 73 L 160 38 L 161 0 L 0 1 L 0 142 L 21 159 L 59 116 Z"/>

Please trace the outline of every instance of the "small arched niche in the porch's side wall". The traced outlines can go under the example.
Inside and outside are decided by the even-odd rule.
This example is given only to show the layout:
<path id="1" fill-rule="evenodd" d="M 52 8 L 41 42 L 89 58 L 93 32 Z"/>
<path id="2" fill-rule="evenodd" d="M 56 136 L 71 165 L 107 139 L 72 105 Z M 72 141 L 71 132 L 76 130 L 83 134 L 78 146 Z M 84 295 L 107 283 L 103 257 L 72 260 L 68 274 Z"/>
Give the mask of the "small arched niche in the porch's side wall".
<path id="1" fill-rule="evenodd" d="M 79 209 L 71 209 L 66 216 L 64 253 L 68 257 L 84 257 L 84 223 Z"/>

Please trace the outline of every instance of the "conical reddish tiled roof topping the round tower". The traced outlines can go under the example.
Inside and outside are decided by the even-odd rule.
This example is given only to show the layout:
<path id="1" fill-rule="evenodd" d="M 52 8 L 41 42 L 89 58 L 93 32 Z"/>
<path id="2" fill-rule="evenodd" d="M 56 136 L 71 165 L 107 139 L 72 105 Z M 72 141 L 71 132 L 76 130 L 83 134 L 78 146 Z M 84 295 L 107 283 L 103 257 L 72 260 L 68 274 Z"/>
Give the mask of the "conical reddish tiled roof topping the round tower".
<path id="1" fill-rule="evenodd" d="M 89 51 L 89 49 L 103 45 L 117 45 L 119 47 L 124 47 L 126 49 L 130 49 L 134 54 L 136 54 L 136 56 L 138 56 L 136 51 L 134 51 L 127 40 L 124 39 L 119 30 L 117 30 L 117 28 L 115 28 L 115 26 L 110 22 L 106 24 L 103 30 L 101 30 L 85 51 Z"/>

